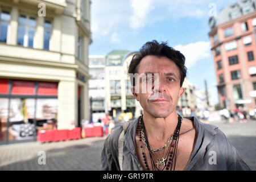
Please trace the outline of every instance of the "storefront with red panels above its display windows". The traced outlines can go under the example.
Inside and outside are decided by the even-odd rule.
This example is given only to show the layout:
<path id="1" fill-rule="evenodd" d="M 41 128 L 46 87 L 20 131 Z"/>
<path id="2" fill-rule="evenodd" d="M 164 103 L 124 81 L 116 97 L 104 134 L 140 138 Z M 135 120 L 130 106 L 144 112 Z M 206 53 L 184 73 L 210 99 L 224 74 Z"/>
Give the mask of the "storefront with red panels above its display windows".
<path id="1" fill-rule="evenodd" d="M 56 129 L 58 82 L 0 78 L 0 144 L 36 140 Z"/>

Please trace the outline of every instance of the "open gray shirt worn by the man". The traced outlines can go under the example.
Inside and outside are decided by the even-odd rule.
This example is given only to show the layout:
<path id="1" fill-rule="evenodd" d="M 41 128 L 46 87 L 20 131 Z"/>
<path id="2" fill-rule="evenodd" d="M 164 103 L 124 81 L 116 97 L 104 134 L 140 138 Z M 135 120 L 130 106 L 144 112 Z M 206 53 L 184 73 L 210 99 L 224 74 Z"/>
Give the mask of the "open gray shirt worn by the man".
<path id="1" fill-rule="evenodd" d="M 197 133 L 195 148 L 185 170 L 250 170 L 241 159 L 236 148 L 232 146 L 228 138 L 218 127 L 200 122 L 195 117 L 185 118 L 190 119 L 194 123 Z M 123 170 L 143 170 L 135 151 L 135 131 L 138 120 L 139 118 L 131 121 L 125 133 Z M 122 126 L 119 126 L 106 138 L 101 153 L 102 170 L 120 170 L 118 163 L 118 138 L 122 130 Z"/>

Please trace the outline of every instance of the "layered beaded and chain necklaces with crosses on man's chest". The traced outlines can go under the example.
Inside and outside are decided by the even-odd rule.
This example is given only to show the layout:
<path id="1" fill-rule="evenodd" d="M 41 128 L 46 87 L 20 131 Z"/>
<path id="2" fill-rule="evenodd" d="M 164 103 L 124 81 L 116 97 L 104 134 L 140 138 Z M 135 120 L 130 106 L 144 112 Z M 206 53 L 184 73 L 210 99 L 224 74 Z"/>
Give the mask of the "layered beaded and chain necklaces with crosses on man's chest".
<path id="1" fill-rule="evenodd" d="M 182 122 L 182 117 L 178 114 L 178 122 L 177 122 L 176 129 L 175 129 L 174 133 L 171 135 L 171 137 L 168 139 L 167 143 L 164 144 L 164 146 L 162 146 L 158 149 L 152 149 L 150 147 L 150 144 L 148 143 L 146 130 L 145 130 L 145 127 L 144 127 L 144 122 L 143 122 L 143 115 L 141 116 L 141 118 L 139 118 L 139 141 L 142 142 L 142 139 L 143 139 L 143 142 L 144 142 L 146 148 L 148 149 L 148 153 L 150 154 L 150 162 L 151 162 L 152 170 L 163 171 L 164 169 L 166 169 L 166 170 L 170 169 L 170 171 L 172 171 L 172 170 L 175 169 L 177 146 L 178 146 L 178 143 L 179 143 L 179 133 L 180 133 L 181 122 Z M 138 132 L 138 130 L 137 130 L 137 132 Z M 168 143 L 170 141 L 171 141 L 171 144 L 168 147 L 167 156 L 165 158 L 166 148 L 167 148 Z M 155 155 L 154 152 L 160 151 L 163 148 L 164 148 L 163 158 L 159 159 L 159 158 L 157 158 L 157 156 Z M 141 145 L 141 149 L 142 149 L 142 157 L 143 157 L 143 162 L 145 164 L 145 167 L 146 167 L 147 170 L 150 170 L 149 166 L 147 164 L 145 151 L 144 151 L 144 148 L 143 148 L 142 145 Z M 154 162 L 152 154 L 155 155 L 155 157 L 157 158 L 157 163 Z M 160 170 L 159 165 L 164 166 L 163 169 Z"/>

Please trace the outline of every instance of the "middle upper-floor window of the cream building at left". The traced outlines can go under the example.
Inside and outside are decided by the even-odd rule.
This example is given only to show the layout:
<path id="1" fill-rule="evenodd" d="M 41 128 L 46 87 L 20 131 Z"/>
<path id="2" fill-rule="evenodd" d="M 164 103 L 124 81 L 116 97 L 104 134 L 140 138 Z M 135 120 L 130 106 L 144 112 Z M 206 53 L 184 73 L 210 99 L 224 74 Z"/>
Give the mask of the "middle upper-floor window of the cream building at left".
<path id="1" fill-rule="evenodd" d="M 29 15 L 19 16 L 18 44 L 24 47 L 33 47 L 36 20 Z"/>

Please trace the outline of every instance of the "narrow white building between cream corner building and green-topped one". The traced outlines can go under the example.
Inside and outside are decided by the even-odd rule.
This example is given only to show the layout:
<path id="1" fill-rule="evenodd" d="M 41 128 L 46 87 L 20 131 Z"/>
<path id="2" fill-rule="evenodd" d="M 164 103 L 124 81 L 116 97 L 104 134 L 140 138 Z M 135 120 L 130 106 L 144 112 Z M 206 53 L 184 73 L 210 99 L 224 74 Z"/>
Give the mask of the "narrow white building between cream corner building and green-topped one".
<path id="1" fill-rule="evenodd" d="M 89 97 L 92 112 L 92 121 L 105 117 L 106 109 L 106 80 L 105 80 L 105 55 L 89 56 Z"/>

